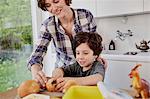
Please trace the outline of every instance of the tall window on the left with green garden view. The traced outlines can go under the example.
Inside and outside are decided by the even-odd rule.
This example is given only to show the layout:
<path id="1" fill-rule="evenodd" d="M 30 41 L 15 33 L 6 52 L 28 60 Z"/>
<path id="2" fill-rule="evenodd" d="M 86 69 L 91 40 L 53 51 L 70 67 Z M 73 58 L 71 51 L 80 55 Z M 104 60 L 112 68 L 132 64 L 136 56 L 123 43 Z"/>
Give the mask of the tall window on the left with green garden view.
<path id="1" fill-rule="evenodd" d="M 30 0 L 0 0 L 0 92 L 31 79 L 27 60 L 32 51 Z"/>

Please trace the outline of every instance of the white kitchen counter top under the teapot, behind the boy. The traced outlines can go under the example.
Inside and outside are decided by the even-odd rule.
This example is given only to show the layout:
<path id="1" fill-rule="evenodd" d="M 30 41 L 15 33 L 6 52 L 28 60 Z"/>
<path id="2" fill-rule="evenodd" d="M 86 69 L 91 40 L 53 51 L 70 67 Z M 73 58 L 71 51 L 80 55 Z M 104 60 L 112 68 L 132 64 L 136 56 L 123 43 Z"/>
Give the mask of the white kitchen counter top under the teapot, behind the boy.
<path id="1" fill-rule="evenodd" d="M 109 51 L 103 52 L 101 56 L 106 60 L 150 62 L 150 52 L 141 52 L 136 55 L 124 55 L 122 52 Z"/>

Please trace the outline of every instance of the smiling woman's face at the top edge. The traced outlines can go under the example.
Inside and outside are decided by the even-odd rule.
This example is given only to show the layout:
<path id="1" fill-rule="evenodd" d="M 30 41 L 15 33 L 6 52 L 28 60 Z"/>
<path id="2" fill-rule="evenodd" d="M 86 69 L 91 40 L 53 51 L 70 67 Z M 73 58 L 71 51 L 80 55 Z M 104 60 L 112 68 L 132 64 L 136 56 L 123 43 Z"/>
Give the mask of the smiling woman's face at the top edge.
<path id="1" fill-rule="evenodd" d="M 45 0 L 47 10 L 58 18 L 67 15 L 69 6 L 66 5 L 65 0 Z"/>

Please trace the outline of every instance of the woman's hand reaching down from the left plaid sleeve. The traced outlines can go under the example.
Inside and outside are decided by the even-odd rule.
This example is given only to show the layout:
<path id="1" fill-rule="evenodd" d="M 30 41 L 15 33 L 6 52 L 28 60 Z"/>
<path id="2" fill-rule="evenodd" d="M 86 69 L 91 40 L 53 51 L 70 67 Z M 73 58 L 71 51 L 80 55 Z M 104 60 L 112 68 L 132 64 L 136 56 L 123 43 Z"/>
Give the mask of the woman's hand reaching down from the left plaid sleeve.
<path id="1" fill-rule="evenodd" d="M 45 87 L 47 82 L 46 75 L 42 71 L 42 68 L 39 65 L 32 65 L 31 67 L 32 78 L 36 80 L 42 87 Z"/>

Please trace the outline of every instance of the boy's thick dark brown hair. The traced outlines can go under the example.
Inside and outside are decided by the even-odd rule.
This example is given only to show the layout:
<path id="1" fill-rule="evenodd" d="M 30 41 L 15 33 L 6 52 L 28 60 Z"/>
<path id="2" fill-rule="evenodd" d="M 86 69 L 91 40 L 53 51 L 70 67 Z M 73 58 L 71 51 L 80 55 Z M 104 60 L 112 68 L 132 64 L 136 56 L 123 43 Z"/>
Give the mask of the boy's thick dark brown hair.
<path id="1" fill-rule="evenodd" d="M 99 55 L 102 52 L 102 37 L 98 33 L 80 32 L 77 33 L 73 39 L 73 52 L 75 54 L 76 48 L 82 44 L 87 43 L 90 49 L 93 50 L 94 55 Z"/>

